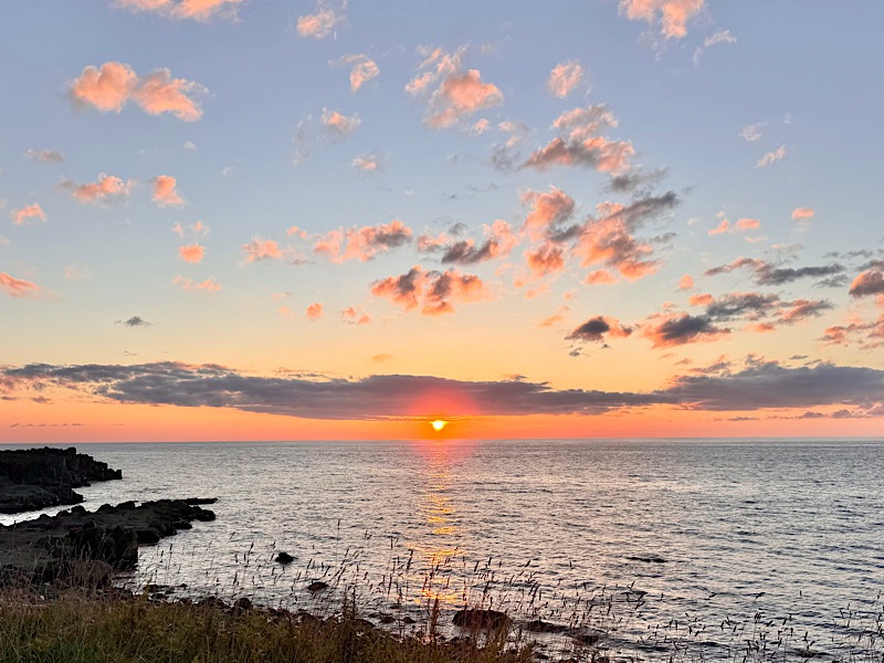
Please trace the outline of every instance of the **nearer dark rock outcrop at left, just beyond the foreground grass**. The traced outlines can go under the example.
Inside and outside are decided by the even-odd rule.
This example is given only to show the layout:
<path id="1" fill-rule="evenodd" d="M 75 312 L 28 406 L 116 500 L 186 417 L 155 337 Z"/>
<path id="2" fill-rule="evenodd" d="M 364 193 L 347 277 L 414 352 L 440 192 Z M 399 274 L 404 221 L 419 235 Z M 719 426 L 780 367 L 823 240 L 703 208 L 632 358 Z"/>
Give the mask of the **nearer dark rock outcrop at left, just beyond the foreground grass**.
<path id="1" fill-rule="evenodd" d="M 103 505 L 90 513 L 82 506 L 55 516 L 0 526 L 0 585 L 52 582 L 102 562 L 113 570 L 138 564 L 138 545 L 190 527 L 193 520 L 214 520 L 201 504 L 215 499 L 157 499 L 118 506 Z M 81 565 L 81 566 L 77 566 Z"/>

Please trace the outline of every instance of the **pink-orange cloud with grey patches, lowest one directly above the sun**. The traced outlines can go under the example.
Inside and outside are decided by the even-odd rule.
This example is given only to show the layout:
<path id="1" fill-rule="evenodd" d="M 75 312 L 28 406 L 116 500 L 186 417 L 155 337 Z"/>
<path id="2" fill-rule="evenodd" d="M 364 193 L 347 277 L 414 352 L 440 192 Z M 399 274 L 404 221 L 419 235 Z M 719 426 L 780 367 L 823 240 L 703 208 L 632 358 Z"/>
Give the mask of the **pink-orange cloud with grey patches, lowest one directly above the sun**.
<path id="1" fill-rule="evenodd" d="M 427 272 L 414 266 L 401 276 L 389 276 L 371 284 L 371 294 L 389 298 L 406 311 L 421 309 L 423 315 L 454 312 L 455 303 L 487 298 L 488 291 L 474 274 L 456 270 Z"/>

